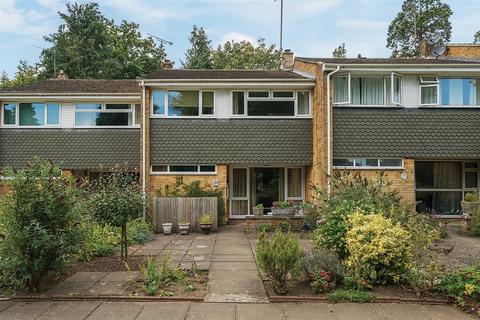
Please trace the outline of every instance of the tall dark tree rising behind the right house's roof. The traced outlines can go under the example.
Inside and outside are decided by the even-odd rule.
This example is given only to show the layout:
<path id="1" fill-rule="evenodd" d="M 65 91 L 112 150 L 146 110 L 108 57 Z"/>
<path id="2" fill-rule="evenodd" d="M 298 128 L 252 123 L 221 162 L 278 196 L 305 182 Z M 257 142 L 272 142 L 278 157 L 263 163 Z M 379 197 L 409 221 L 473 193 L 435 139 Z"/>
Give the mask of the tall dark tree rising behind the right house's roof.
<path id="1" fill-rule="evenodd" d="M 450 41 L 452 9 L 441 0 L 404 0 L 402 11 L 390 23 L 387 48 L 392 58 L 415 58 L 420 55 L 419 45 L 425 37 L 441 34 L 439 43 Z"/>

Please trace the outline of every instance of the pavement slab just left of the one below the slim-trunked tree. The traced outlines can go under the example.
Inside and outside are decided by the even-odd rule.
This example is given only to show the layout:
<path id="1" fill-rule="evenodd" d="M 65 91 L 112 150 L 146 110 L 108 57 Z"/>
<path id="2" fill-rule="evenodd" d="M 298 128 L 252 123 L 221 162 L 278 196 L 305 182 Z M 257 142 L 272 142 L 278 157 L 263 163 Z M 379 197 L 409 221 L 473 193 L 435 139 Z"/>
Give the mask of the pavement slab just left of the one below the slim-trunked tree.
<path id="1" fill-rule="evenodd" d="M 55 302 L 37 320 L 83 320 L 100 304 L 96 301 Z"/>

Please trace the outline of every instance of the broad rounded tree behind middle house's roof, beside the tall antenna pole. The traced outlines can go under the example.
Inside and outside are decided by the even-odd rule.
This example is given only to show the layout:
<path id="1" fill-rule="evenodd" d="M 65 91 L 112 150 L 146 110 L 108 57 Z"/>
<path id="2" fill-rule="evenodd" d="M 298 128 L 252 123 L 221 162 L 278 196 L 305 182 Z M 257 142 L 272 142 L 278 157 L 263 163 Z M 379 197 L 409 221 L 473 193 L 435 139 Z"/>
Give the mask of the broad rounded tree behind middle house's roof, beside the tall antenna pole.
<path id="1" fill-rule="evenodd" d="M 259 38 L 254 46 L 248 41 L 227 41 L 213 52 L 214 69 L 262 69 L 280 68 L 282 53 L 275 45 L 268 46 Z"/>

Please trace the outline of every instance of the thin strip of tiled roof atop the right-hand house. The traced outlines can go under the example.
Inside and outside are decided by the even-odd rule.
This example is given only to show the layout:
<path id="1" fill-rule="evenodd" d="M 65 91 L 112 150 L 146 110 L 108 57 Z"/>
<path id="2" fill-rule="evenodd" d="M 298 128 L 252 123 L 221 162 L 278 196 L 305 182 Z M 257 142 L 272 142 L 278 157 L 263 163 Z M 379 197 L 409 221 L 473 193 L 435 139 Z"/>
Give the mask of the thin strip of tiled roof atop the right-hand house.
<path id="1" fill-rule="evenodd" d="M 479 61 L 472 61 L 468 59 L 424 59 L 424 58 L 308 58 L 308 57 L 295 57 L 295 59 L 306 62 L 324 62 L 324 63 L 337 63 L 337 64 L 479 64 Z"/>

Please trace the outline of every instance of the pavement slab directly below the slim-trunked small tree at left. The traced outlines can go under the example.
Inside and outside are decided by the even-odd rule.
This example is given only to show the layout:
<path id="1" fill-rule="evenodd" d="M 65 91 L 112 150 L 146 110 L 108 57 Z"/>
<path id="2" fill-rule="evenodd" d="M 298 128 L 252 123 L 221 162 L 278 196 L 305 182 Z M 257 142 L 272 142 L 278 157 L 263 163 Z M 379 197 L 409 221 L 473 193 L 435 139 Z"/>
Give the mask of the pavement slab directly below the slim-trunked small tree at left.
<path id="1" fill-rule="evenodd" d="M 85 320 L 134 320 L 144 307 L 136 302 L 103 302 Z"/>

